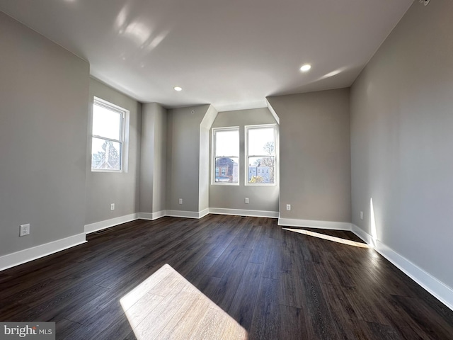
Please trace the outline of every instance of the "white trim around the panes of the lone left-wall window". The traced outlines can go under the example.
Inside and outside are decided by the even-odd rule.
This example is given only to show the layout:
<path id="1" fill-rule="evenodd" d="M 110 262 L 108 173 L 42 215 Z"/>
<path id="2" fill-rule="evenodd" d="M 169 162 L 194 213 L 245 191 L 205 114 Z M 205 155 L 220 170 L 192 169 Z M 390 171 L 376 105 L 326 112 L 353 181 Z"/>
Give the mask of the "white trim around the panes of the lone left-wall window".
<path id="1" fill-rule="evenodd" d="M 117 106 L 114 103 L 110 103 L 109 101 L 105 101 L 102 98 L 98 98 L 96 96 L 93 96 L 93 106 L 94 105 L 98 106 L 103 106 L 104 108 L 108 108 L 108 110 L 111 111 L 116 111 L 117 113 L 120 113 L 121 115 L 121 127 L 120 127 L 120 138 L 121 140 L 115 140 L 99 135 L 93 135 L 93 107 L 91 108 L 91 135 L 90 135 L 90 167 L 91 167 L 91 172 L 113 172 L 113 173 L 122 173 L 122 172 L 127 172 L 127 159 L 128 159 L 128 152 L 127 150 L 129 149 L 128 147 L 128 142 L 129 142 L 129 110 L 126 110 L 125 108 L 122 108 L 121 106 Z M 91 154 L 91 143 L 93 141 L 93 137 L 95 138 L 100 138 L 101 140 L 110 140 L 112 142 L 119 142 L 121 145 L 121 154 L 120 154 L 120 169 L 115 170 L 115 169 L 96 169 L 92 167 L 92 160 L 93 160 L 93 154 Z"/>

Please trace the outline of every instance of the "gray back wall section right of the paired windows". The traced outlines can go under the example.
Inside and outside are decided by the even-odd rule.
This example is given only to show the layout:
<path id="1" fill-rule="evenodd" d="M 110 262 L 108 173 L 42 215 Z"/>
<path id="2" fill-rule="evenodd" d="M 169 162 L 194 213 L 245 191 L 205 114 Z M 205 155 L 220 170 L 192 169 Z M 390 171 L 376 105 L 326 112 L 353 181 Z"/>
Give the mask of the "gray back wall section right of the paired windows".
<path id="1" fill-rule="evenodd" d="M 280 118 L 280 217 L 350 222 L 349 89 L 268 101 Z"/>

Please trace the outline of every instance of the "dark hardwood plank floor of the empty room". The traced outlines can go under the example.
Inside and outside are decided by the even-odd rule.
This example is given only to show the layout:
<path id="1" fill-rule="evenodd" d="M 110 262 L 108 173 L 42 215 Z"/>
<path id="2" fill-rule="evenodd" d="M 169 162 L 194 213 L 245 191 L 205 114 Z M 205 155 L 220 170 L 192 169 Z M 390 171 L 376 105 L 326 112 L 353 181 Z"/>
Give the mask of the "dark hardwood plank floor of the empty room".
<path id="1" fill-rule="evenodd" d="M 351 232 L 311 231 L 361 242 Z M 220 339 L 212 334 L 227 319 L 248 339 L 453 339 L 452 310 L 376 251 L 288 231 L 277 220 L 163 217 L 87 239 L 0 272 L 0 321 L 55 321 L 57 339 Z M 202 294 L 189 300 L 194 292 Z M 134 313 L 142 330 L 151 327 L 147 336 L 132 330 L 125 296 L 140 301 Z M 168 296 L 173 305 L 162 302 Z M 206 312 L 208 299 L 226 319 Z M 210 323 L 210 337 L 197 320 Z"/>

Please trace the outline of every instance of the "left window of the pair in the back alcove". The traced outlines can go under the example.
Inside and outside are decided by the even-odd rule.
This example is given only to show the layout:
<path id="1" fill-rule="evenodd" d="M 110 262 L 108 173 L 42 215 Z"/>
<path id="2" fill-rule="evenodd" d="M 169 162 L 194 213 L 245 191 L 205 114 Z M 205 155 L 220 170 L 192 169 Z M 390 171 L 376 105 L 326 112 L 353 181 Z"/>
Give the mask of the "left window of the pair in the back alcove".
<path id="1" fill-rule="evenodd" d="M 239 128 L 212 129 L 212 183 L 239 185 Z"/>

